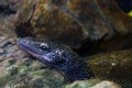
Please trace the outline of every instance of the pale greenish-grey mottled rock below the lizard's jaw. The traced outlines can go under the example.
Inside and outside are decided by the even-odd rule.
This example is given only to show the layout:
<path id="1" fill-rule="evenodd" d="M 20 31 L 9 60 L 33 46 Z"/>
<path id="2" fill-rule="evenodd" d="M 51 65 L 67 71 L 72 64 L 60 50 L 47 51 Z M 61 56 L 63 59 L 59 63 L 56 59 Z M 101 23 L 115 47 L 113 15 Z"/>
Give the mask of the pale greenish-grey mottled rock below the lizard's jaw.
<path id="1" fill-rule="evenodd" d="M 22 58 L 21 52 L 20 55 L 9 56 L 0 63 L 0 87 L 58 88 L 63 85 L 64 77 L 61 74 L 40 62 Z"/>

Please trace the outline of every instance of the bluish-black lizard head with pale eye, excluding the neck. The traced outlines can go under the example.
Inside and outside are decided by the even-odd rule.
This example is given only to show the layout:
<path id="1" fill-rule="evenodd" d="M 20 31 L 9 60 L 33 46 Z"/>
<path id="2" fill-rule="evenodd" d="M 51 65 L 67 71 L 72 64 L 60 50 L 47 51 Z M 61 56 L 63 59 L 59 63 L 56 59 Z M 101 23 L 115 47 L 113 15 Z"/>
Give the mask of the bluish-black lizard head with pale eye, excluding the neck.
<path id="1" fill-rule="evenodd" d="M 78 56 L 68 46 L 58 44 L 50 40 L 36 38 L 19 38 L 19 46 L 28 52 L 31 56 L 42 63 L 50 65 L 57 69 L 66 69 L 72 66 L 74 58 Z M 73 61 L 73 62 L 72 62 Z"/>

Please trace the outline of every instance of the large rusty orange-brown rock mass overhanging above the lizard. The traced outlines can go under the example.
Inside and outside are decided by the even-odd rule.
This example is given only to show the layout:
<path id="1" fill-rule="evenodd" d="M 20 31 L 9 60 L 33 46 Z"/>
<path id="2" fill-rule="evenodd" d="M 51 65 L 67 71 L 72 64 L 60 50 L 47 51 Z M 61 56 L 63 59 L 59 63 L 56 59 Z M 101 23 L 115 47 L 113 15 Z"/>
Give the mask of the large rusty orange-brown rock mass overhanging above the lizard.
<path id="1" fill-rule="evenodd" d="M 19 31 L 54 38 L 73 48 L 80 48 L 89 40 L 125 37 L 132 25 L 132 18 L 121 11 L 116 0 L 30 0 L 20 10 L 20 19 L 24 29 Z"/>

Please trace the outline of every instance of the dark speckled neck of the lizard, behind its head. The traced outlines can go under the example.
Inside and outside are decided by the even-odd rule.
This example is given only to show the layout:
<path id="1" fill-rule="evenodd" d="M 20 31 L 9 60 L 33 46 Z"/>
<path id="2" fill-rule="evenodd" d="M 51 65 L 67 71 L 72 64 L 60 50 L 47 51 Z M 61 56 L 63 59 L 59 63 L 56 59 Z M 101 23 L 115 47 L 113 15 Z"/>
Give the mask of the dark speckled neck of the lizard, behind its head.
<path id="1" fill-rule="evenodd" d="M 67 68 L 66 70 L 64 70 L 64 73 L 70 81 L 86 80 L 94 77 L 94 74 L 88 68 L 87 64 L 81 62 L 79 62 L 78 64 L 76 63 L 75 66 L 72 66 L 72 68 Z"/>

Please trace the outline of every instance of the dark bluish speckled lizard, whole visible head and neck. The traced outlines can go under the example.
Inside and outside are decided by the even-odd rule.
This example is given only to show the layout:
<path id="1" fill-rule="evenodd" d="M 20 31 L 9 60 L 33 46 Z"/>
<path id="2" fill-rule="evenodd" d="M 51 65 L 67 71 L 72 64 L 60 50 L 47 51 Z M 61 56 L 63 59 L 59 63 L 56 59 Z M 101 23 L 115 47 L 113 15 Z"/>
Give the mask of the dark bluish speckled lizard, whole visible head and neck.
<path id="1" fill-rule="evenodd" d="M 18 44 L 40 62 L 62 70 L 70 81 L 85 80 L 94 77 L 88 65 L 64 44 L 31 37 L 19 38 Z"/>

